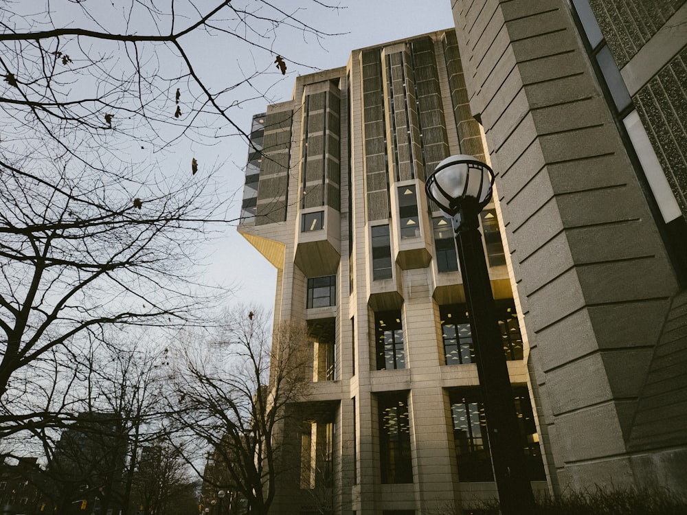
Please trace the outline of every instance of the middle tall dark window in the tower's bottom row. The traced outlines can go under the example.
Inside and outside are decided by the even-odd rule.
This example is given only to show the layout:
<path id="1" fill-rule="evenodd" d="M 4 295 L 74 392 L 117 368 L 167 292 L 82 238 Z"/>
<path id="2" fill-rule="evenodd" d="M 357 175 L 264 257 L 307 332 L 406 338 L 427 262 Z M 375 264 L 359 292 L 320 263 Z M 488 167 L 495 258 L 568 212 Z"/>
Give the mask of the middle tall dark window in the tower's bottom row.
<path id="1" fill-rule="evenodd" d="M 379 396 L 379 457 L 382 483 L 413 482 L 407 393 Z"/>

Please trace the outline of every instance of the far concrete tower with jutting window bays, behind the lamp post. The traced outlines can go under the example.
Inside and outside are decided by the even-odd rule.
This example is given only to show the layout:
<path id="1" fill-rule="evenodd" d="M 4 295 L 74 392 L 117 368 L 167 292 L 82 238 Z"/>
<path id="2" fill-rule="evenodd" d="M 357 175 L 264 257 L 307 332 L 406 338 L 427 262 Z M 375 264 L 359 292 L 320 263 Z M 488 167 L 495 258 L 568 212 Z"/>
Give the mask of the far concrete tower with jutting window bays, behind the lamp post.
<path id="1" fill-rule="evenodd" d="M 449 30 L 354 50 L 254 118 L 239 231 L 278 269 L 275 323 L 305 321 L 313 353 L 312 395 L 281 437 L 277 513 L 419 514 L 495 496 L 453 233 L 424 191 L 445 157 L 488 159 L 464 98 Z M 493 344 L 546 488 L 494 205 L 482 226 Z"/>

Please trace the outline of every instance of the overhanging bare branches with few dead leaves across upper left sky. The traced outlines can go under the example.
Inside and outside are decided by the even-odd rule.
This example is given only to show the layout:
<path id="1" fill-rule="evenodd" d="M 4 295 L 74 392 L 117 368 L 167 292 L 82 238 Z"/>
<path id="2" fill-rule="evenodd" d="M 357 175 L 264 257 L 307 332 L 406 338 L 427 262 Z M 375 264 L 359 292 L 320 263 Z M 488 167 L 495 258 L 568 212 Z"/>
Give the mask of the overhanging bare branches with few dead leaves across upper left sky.
<path id="1" fill-rule="evenodd" d="M 319 0 L 1 5 L 0 165 L 67 155 L 103 171 L 142 144 L 245 136 L 234 113 L 264 95 L 256 79 L 298 60 L 277 50 L 281 36 L 319 43 L 326 34 L 303 9 L 338 9 Z"/>

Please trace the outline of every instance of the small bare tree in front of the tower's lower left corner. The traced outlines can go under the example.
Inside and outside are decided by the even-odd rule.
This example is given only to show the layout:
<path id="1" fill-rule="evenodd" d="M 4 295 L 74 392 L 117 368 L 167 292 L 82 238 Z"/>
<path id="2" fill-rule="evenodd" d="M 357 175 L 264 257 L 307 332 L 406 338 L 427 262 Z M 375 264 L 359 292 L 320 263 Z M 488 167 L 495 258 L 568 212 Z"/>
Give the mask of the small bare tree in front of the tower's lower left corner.
<path id="1" fill-rule="evenodd" d="M 284 472 L 278 433 L 286 405 L 308 396 L 306 341 L 304 325 L 280 323 L 271 333 L 263 312 L 239 308 L 218 341 L 183 353 L 181 422 L 214 448 L 214 472 L 221 472 L 203 479 L 238 494 L 251 513 L 269 512 L 275 477 Z"/>

